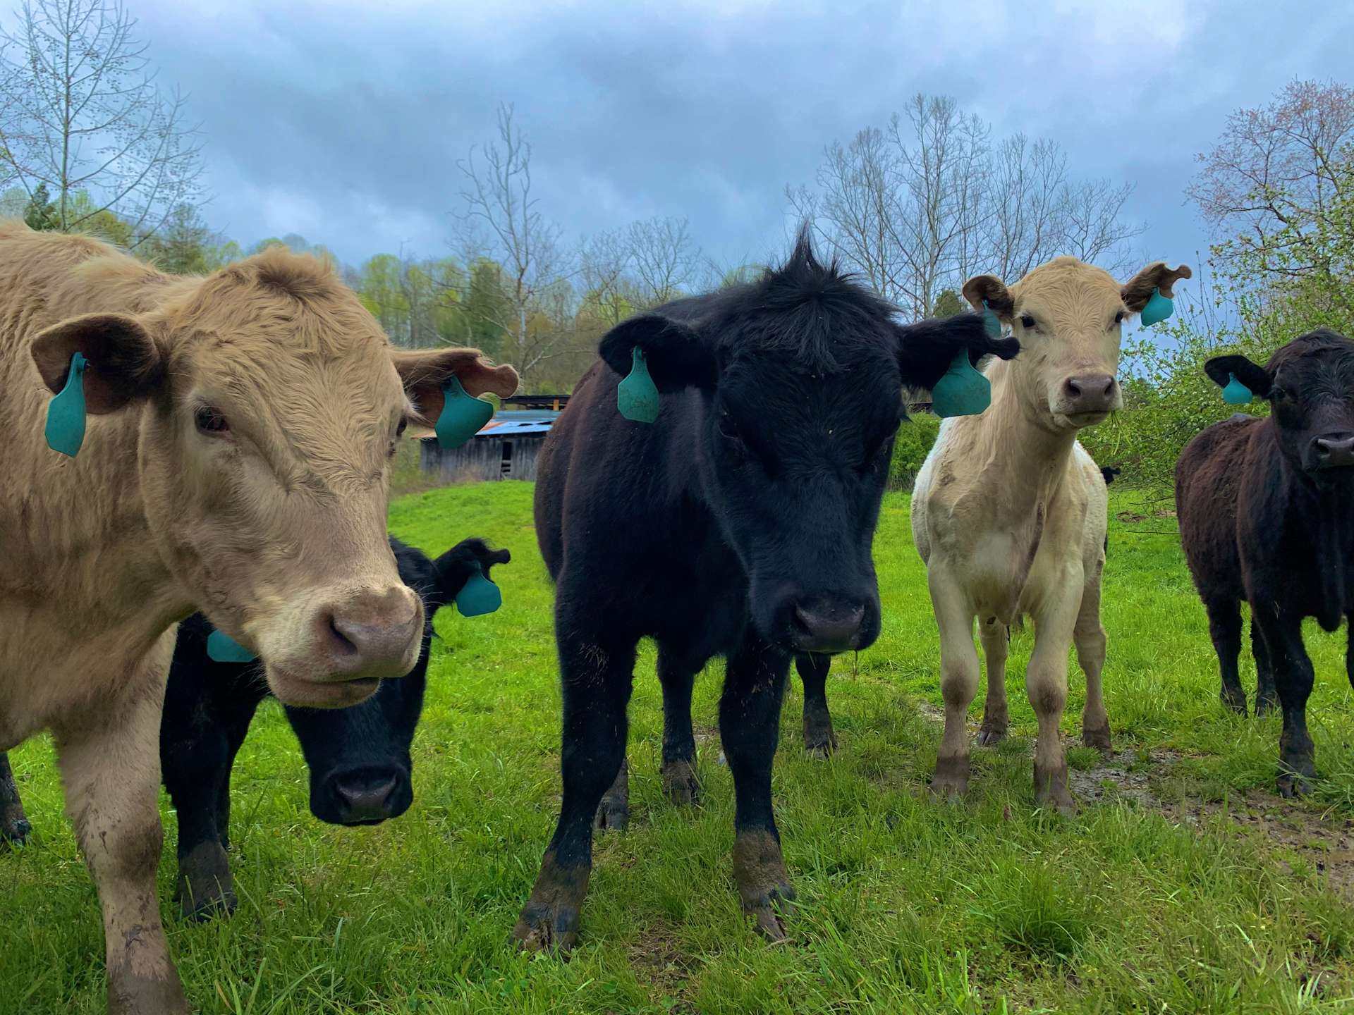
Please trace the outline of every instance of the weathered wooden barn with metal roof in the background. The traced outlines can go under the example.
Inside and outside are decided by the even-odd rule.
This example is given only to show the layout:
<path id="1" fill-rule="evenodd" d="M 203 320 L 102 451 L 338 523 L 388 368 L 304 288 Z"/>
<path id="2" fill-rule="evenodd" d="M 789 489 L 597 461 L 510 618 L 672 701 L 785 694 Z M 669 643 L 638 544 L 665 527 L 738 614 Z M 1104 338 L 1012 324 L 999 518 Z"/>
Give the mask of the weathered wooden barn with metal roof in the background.
<path id="1" fill-rule="evenodd" d="M 483 429 L 459 448 L 424 440 L 418 464 L 424 472 L 452 482 L 535 479 L 536 456 L 569 395 L 513 395 Z"/>

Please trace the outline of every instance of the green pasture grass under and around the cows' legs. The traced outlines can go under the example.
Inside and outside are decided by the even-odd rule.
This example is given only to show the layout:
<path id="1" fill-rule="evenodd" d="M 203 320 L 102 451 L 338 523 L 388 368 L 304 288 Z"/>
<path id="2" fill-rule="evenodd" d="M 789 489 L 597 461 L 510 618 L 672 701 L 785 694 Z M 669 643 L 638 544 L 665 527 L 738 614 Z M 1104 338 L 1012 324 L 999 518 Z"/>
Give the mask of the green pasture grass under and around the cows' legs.
<path id="1" fill-rule="evenodd" d="M 758 941 L 733 890 L 719 666 L 697 683 L 705 805 L 686 813 L 658 782 L 661 698 L 647 647 L 631 706 L 631 827 L 598 839 L 570 961 L 508 943 L 559 798 L 551 589 L 531 487 L 399 499 L 391 529 L 427 551 L 468 535 L 513 551 L 496 571 L 504 608 L 440 614 L 414 744 L 417 798 L 397 821 L 313 820 L 282 710 L 261 710 L 234 775 L 233 920 L 176 919 L 164 805 L 160 893 L 190 997 L 203 1012 L 250 1015 L 1354 1008 L 1343 636 L 1308 639 L 1322 780 L 1312 800 L 1289 805 L 1269 794 L 1277 720 L 1242 720 L 1217 702 L 1174 520 L 1154 514 L 1169 505 L 1113 493 L 1112 514 L 1144 517 L 1112 524 L 1106 572 L 1106 700 L 1124 763 L 1099 770 L 1094 752 L 1070 751 L 1078 775 L 1104 790 L 1098 801 L 1075 819 L 1032 807 L 1028 632 L 1011 654 L 1014 736 L 975 750 L 964 805 L 927 798 L 937 636 L 907 498 L 890 494 L 876 541 L 884 635 L 837 660 L 829 682 L 841 751 L 830 762 L 803 755 L 798 682 L 783 717 L 774 790 L 800 896 L 793 941 Z M 1254 670 L 1243 679 L 1252 683 Z M 1068 738 L 1079 723 L 1075 666 L 1072 687 Z M 37 834 L 0 855 L 0 1012 L 100 1012 L 99 912 L 50 742 L 12 759 Z"/>

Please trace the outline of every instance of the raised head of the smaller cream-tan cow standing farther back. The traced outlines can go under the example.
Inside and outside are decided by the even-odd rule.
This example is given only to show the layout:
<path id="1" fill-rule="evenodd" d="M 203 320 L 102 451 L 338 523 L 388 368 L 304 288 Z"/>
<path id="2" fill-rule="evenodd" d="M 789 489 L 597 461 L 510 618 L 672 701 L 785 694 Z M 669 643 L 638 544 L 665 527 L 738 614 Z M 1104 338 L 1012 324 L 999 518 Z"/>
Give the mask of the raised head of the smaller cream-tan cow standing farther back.
<path id="1" fill-rule="evenodd" d="M 1021 353 L 1006 365 L 1025 405 L 1055 428 L 1090 426 L 1124 403 L 1118 380 L 1120 328 L 1147 306 L 1152 290 L 1171 296 L 1186 265 L 1150 264 L 1120 286 L 1102 268 L 1055 257 L 1010 288 L 995 275 L 964 283 L 975 310 L 983 302 L 1020 338 Z"/>

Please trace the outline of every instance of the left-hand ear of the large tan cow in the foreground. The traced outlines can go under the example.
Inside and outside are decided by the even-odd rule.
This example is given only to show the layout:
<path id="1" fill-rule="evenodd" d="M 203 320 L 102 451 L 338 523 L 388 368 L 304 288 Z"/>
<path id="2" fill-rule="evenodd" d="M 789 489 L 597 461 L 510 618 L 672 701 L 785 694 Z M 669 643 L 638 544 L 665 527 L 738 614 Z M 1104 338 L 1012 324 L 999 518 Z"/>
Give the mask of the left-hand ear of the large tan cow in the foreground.
<path id="1" fill-rule="evenodd" d="M 91 415 L 115 413 L 149 395 L 165 376 L 165 353 L 145 325 L 126 314 L 84 314 L 43 329 L 32 340 L 32 361 L 56 394 L 66 386 L 70 359 L 80 353 L 84 407 Z"/>

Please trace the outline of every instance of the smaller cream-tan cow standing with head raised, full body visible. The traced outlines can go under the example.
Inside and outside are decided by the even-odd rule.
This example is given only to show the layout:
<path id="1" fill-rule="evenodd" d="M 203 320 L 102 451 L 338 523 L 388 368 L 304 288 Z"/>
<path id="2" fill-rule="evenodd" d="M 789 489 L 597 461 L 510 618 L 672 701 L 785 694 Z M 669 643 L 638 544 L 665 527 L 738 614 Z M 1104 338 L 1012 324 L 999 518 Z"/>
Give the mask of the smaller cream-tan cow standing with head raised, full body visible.
<path id="1" fill-rule="evenodd" d="M 1101 697 L 1105 629 L 1099 620 L 1108 493 L 1076 432 L 1122 403 L 1120 326 L 1160 288 L 1171 295 L 1187 267 L 1158 261 L 1120 286 L 1075 257 L 1040 265 L 1009 290 L 991 275 L 964 284 L 1020 338 L 1021 353 L 987 368 L 992 403 L 982 415 L 946 420 L 913 493 L 913 537 L 926 562 L 941 639 L 945 734 L 932 792 L 968 788 L 965 717 L 978 693 L 979 621 L 987 656 L 987 704 L 978 742 L 1006 735 L 1006 628 L 1034 621 L 1025 689 L 1039 719 L 1034 800 L 1071 811 L 1059 723 L 1067 702 L 1067 651 L 1086 673 L 1086 744 L 1110 748 Z"/>

